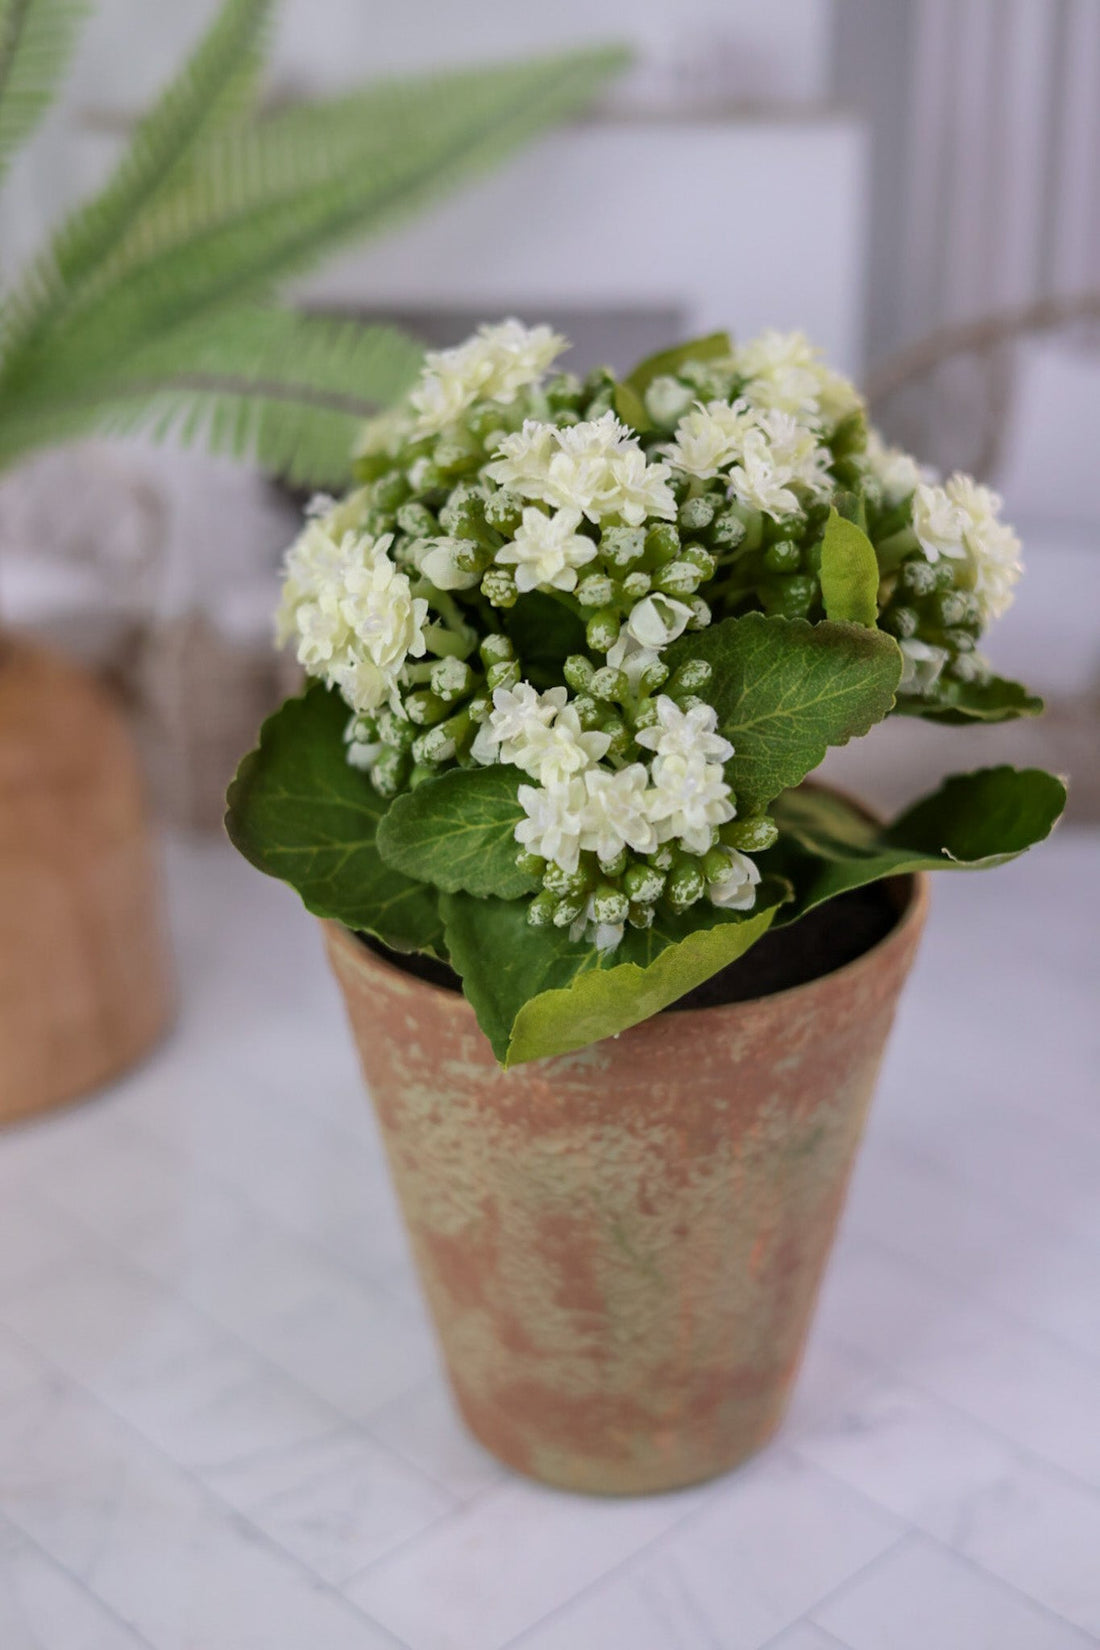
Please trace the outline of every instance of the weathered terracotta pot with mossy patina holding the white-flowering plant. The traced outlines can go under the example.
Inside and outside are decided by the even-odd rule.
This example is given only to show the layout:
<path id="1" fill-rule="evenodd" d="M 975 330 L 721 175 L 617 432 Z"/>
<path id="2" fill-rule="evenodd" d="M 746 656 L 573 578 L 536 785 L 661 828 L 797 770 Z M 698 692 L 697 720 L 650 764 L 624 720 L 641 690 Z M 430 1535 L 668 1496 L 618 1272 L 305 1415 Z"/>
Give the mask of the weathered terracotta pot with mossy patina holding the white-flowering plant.
<path id="1" fill-rule="evenodd" d="M 498 1069 L 463 997 L 327 924 L 450 1381 L 519 1472 L 628 1495 L 778 1426 L 924 922 L 834 974 Z"/>

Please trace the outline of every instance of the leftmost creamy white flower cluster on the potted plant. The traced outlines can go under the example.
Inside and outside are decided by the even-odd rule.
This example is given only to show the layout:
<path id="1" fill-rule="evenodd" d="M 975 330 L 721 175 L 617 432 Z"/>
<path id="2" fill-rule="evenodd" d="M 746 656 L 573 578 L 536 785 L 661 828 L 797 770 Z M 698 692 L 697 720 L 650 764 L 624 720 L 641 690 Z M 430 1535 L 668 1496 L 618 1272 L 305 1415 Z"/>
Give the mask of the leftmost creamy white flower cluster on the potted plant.
<path id="1" fill-rule="evenodd" d="M 427 602 L 389 559 L 391 543 L 389 533 L 335 536 L 313 520 L 287 553 L 277 640 L 297 637 L 302 668 L 360 713 L 396 708 L 401 670 L 425 648 Z"/>

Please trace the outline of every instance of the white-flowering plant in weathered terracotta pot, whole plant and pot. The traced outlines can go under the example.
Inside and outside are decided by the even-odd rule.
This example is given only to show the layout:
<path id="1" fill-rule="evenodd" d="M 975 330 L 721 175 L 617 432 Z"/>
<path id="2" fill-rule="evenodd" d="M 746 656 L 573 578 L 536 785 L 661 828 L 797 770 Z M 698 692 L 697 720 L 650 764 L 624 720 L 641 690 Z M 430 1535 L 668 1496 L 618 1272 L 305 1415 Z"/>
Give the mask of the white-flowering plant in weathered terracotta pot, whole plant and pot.
<path id="1" fill-rule="evenodd" d="M 638 1492 L 775 1427 L 927 870 L 1044 838 L 1041 771 L 891 823 L 805 784 L 887 714 L 1034 714 L 978 642 L 996 497 L 800 335 L 617 381 L 548 327 L 429 355 L 287 556 L 312 678 L 229 792 L 325 919 L 458 1404 Z"/>

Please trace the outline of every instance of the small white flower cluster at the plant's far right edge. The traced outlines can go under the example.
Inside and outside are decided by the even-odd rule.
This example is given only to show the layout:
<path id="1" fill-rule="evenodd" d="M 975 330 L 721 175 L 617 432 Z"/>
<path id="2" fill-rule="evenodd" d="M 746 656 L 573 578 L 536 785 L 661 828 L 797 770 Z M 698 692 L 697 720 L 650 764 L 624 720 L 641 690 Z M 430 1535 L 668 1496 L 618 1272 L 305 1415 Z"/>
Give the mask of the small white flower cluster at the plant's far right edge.
<path id="1" fill-rule="evenodd" d="M 999 493 L 957 474 L 943 487 L 922 482 L 912 510 L 914 533 L 927 559 L 965 561 L 983 620 L 999 619 L 1024 571 L 1019 538 L 1001 521 Z"/>

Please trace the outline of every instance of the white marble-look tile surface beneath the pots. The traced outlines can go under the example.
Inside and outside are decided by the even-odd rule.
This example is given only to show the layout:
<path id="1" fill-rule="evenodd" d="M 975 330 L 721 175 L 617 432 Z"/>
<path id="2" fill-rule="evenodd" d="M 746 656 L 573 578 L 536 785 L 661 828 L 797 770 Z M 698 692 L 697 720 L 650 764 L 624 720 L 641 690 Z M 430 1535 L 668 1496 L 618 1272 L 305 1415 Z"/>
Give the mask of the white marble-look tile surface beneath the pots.
<path id="1" fill-rule="evenodd" d="M 1100 1643 L 1100 840 L 938 881 L 787 1427 L 617 1503 L 455 1421 L 312 922 L 170 888 L 173 1038 L 0 1138 L 0 1650 Z"/>

